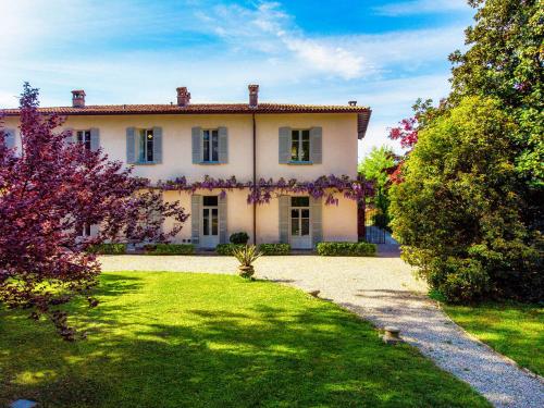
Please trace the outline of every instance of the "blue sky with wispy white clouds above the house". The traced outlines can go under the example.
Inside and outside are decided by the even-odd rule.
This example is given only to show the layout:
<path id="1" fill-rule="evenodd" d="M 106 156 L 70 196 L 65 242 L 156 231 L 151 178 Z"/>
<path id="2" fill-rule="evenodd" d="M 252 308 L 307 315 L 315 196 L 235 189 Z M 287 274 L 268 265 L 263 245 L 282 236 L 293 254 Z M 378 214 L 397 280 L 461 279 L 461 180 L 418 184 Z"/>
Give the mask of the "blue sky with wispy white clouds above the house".
<path id="1" fill-rule="evenodd" d="M 393 145 L 388 126 L 418 97 L 448 92 L 447 55 L 463 47 L 465 0 L 17 0 L 2 3 L 0 107 L 22 83 L 42 106 L 260 100 L 373 110 L 362 157 Z M 394 145 L 393 145 L 394 146 Z"/>

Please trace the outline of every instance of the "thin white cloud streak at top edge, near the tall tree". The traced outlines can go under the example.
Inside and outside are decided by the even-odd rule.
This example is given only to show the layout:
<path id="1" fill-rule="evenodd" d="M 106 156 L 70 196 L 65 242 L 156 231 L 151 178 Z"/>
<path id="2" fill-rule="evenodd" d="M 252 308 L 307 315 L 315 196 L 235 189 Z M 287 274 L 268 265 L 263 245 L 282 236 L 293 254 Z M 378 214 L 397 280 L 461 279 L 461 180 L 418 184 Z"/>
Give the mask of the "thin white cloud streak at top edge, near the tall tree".
<path id="1" fill-rule="evenodd" d="M 374 8 L 376 14 L 388 16 L 450 13 L 467 10 L 470 10 L 470 7 L 466 0 L 410 0 Z"/>

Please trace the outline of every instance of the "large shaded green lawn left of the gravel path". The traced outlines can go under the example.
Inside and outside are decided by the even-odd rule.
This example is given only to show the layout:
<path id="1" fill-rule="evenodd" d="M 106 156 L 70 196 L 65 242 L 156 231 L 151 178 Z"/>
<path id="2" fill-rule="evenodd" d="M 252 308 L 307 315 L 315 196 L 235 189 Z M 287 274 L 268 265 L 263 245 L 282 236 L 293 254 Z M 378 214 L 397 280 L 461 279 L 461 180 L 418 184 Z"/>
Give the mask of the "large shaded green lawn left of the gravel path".
<path id="1" fill-rule="evenodd" d="M 0 310 L 0 406 L 489 407 L 408 345 L 302 292 L 237 276 L 118 272 L 75 305 L 87 339 Z"/>

